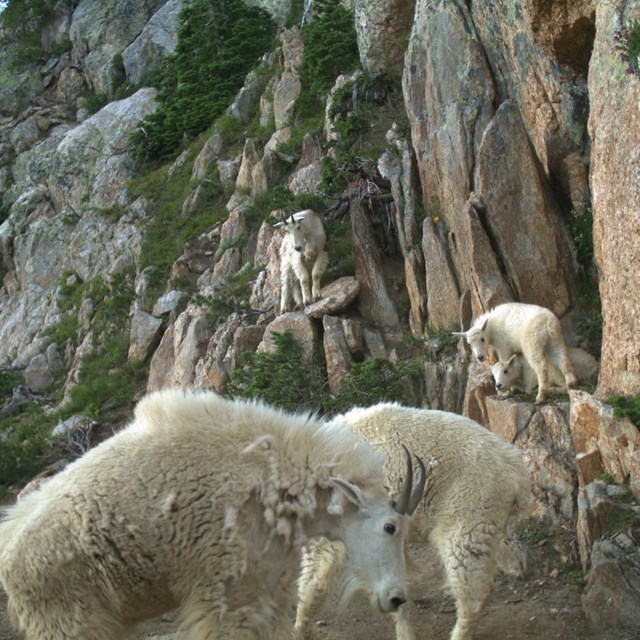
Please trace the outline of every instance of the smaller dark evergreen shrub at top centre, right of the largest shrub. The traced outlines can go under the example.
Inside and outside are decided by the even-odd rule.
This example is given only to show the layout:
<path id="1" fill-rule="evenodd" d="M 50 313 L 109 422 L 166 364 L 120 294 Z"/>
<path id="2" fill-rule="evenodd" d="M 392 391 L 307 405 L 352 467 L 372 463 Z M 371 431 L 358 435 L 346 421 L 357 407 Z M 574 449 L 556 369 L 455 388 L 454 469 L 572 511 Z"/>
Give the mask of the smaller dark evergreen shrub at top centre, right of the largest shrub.
<path id="1" fill-rule="evenodd" d="M 302 38 L 302 84 L 313 92 L 326 92 L 339 74 L 360 64 L 353 13 L 339 0 L 315 0 L 313 19 L 302 27 Z"/>

